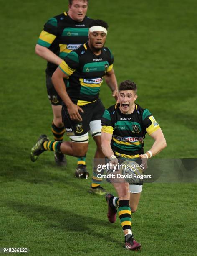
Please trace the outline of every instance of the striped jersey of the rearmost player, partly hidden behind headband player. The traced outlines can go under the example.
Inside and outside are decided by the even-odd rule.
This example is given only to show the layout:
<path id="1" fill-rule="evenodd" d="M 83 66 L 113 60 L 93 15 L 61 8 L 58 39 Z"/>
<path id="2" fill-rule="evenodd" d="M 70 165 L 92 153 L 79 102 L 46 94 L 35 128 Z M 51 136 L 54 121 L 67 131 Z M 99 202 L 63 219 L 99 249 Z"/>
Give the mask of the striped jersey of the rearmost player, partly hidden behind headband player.
<path id="1" fill-rule="evenodd" d="M 47 47 L 64 59 L 72 50 L 88 41 L 89 24 L 93 19 L 87 16 L 83 21 L 77 22 L 64 12 L 49 19 L 40 33 L 37 44 Z M 48 62 L 46 72 L 52 76 L 58 66 Z"/>

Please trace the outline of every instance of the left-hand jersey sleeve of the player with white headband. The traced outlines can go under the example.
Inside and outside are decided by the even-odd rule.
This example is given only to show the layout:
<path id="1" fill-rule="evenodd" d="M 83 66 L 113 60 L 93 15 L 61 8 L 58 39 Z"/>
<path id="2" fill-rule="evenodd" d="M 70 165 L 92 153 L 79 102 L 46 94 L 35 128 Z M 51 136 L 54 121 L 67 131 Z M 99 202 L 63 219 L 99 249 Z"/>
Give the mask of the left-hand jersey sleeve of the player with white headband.
<path id="1" fill-rule="evenodd" d="M 71 51 L 66 58 L 61 62 L 59 68 L 69 77 L 75 72 L 79 66 L 78 54 Z"/>

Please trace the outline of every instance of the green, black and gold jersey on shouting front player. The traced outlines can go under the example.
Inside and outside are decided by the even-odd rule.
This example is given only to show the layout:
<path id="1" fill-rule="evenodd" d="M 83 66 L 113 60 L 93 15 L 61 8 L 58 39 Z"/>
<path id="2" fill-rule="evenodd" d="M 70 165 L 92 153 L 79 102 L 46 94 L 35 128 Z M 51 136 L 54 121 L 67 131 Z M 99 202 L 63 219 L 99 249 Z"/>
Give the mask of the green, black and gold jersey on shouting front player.
<path id="1" fill-rule="evenodd" d="M 148 109 L 135 104 L 132 114 L 123 114 L 119 103 L 105 110 L 102 131 L 112 134 L 111 148 L 123 158 L 138 158 L 144 154 L 144 138 L 159 129 L 159 124 Z"/>

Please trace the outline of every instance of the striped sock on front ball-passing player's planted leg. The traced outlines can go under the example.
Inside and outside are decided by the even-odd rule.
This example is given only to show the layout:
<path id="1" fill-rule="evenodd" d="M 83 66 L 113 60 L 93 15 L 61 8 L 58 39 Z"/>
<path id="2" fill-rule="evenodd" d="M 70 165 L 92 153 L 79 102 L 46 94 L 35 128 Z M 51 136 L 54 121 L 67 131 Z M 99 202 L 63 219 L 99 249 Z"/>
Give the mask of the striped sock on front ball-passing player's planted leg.
<path id="1" fill-rule="evenodd" d="M 123 231 L 131 230 L 131 208 L 129 206 L 129 200 L 119 200 L 118 212 Z"/>

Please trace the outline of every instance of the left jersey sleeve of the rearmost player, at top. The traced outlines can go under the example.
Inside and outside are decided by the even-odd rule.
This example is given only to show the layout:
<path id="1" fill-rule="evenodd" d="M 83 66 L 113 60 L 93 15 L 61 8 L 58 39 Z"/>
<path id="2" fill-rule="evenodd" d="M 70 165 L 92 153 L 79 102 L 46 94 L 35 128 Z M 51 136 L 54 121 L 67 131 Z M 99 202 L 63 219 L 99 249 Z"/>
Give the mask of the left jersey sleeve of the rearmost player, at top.
<path id="1" fill-rule="evenodd" d="M 49 48 L 58 35 L 58 23 L 56 18 L 49 19 L 43 31 L 40 33 L 37 44 Z"/>

